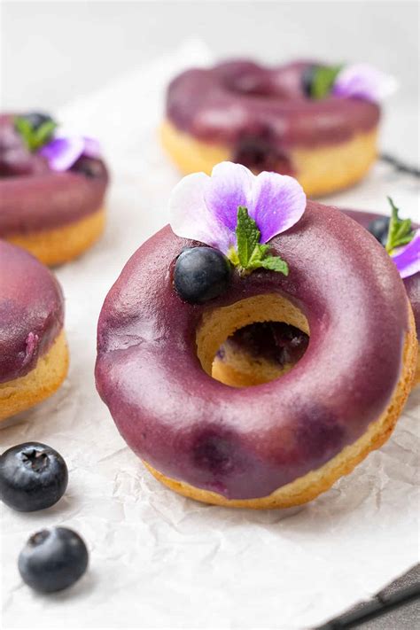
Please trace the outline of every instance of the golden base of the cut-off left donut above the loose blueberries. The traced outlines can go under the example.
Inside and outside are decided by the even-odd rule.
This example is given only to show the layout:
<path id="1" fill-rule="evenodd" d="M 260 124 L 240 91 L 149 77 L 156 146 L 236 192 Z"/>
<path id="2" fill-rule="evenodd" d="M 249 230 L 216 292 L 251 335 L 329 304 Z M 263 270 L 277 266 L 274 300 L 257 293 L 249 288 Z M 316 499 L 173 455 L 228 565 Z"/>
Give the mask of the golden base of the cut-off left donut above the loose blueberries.
<path id="1" fill-rule="evenodd" d="M 47 354 L 26 376 L 0 383 L 0 420 L 34 407 L 58 390 L 66 378 L 68 348 L 61 331 Z"/>

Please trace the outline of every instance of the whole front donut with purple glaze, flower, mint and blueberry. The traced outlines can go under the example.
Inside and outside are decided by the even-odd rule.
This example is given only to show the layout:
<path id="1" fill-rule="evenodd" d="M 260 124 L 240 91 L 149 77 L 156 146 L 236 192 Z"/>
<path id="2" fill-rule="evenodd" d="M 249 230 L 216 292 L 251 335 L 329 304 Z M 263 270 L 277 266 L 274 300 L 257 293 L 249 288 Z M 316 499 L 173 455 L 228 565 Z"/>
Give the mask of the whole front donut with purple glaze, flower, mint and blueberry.
<path id="1" fill-rule="evenodd" d="M 176 492 L 237 508 L 310 501 L 388 439 L 408 397 L 417 347 L 401 277 L 292 177 L 221 164 L 178 183 L 170 212 L 105 299 L 98 393 Z M 310 336 L 294 368 L 243 389 L 215 380 L 222 342 L 266 320 Z"/>

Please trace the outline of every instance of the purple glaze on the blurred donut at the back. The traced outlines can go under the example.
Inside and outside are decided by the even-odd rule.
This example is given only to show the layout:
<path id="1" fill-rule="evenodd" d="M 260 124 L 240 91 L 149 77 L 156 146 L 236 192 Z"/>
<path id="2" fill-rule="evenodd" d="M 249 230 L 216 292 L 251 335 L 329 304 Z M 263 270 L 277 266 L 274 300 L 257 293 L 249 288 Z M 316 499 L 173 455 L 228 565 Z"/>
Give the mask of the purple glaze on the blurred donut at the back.
<path id="1" fill-rule="evenodd" d="M 180 74 L 167 90 L 167 118 L 206 142 L 248 144 L 282 152 L 291 147 L 338 144 L 379 121 L 379 107 L 357 98 L 308 98 L 302 74 L 314 62 L 273 68 L 248 60 Z M 260 144 L 258 144 L 260 143 Z M 238 160 L 240 161 L 240 160 Z"/>

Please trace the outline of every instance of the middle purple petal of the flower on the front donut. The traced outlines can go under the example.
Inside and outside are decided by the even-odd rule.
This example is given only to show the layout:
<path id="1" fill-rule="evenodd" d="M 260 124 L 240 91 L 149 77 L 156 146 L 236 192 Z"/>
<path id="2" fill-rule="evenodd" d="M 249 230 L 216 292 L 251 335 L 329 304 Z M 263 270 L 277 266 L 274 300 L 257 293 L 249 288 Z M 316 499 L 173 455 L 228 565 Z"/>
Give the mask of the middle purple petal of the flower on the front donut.
<path id="1" fill-rule="evenodd" d="M 251 201 L 253 173 L 242 164 L 221 162 L 216 164 L 209 180 L 205 201 L 217 221 L 235 232 L 237 206 L 248 207 Z"/>

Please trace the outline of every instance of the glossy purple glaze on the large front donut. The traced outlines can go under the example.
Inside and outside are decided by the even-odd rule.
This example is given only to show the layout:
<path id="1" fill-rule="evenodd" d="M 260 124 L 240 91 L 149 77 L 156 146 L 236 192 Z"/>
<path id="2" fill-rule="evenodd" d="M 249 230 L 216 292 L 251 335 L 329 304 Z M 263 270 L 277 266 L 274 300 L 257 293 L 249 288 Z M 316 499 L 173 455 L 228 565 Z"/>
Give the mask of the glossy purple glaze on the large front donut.
<path id="1" fill-rule="evenodd" d="M 270 242 L 289 276 L 235 274 L 206 306 L 173 290 L 174 261 L 189 245 L 167 226 L 128 261 L 99 318 L 97 389 L 128 445 L 165 475 L 230 499 L 266 496 L 329 461 L 385 410 L 408 331 L 404 285 L 374 237 L 314 202 Z M 209 377 L 195 342 L 206 308 L 271 292 L 307 315 L 306 354 L 264 385 L 237 390 Z"/>

